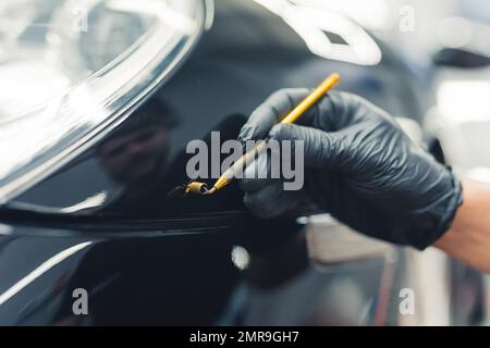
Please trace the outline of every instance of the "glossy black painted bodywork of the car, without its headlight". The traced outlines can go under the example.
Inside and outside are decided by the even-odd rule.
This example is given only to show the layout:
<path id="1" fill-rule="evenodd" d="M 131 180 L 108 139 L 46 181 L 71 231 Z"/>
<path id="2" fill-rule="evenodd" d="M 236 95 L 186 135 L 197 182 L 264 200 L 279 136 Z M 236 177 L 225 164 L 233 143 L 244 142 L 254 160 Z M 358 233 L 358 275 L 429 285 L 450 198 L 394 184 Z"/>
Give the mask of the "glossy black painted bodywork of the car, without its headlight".
<path id="1" fill-rule="evenodd" d="M 390 294 L 382 290 L 396 285 L 383 283 L 394 272 L 384 260 L 315 266 L 302 226 L 292 217 L 255 220 L 236 185 L 209 198 L 167 197 L 185 181 L 189 140 L 211 129 L 235 138 L 272 91 L 315 86 L 332 71 L 343 77 L 341 89 L 420 120 L 424 82 L 383 52 L 372 67 L 328 61 L 260 5 L 217 1 L 212 28 L 169 83 L 96 147 L 0 211 L 0 300 L 11 295 L 0 301 L 0 324 L 385 322 Z M 246 272 L 232 262 L 235 246 L 250 254 Z M 87 316 L 73 315 L 78 287 L 89 293 Z"/>

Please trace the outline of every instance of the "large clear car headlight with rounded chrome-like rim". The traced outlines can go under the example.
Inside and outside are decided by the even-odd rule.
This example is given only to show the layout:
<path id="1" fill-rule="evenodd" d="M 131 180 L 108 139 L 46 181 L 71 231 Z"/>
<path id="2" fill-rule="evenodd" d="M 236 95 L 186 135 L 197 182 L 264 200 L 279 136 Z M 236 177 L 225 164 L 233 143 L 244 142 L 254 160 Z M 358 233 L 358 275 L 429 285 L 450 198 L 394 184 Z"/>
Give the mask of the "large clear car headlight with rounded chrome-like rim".
<path id="1" fill-rule="evenodd" d="M 205 0 L 0 3 L 0 203 L 120 124 L 187 55 Z"/>

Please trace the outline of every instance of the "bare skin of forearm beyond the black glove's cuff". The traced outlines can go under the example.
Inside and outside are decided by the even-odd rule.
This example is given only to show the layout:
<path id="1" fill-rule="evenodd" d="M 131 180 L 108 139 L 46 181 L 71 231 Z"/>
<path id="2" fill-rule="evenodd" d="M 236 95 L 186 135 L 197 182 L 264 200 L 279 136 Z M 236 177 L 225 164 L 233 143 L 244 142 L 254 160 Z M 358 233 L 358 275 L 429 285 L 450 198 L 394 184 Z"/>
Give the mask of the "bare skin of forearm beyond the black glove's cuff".
<path id="1" fill-rule="evenodd" d="M 451 229 L 434 246 L 490 273 L 490 185 L 465 181 L 463 190 L 464 202 Z"/>

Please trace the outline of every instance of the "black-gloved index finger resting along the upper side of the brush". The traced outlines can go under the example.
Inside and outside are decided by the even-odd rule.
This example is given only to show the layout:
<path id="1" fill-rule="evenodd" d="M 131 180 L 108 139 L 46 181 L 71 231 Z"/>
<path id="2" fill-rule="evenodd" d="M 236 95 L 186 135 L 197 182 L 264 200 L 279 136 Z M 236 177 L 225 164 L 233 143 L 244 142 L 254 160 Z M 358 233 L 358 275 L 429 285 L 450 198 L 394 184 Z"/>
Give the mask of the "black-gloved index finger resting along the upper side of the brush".
<path id="1" fill-rule="evenodd" d="M 252 113 L 240 132 L 238 140 L 244 144 L 247 140 L 266 138 L 272 126 L 303 100 L 308 92 L 309 90 L 306 88 L 290 88 L 272 94 Z"/>

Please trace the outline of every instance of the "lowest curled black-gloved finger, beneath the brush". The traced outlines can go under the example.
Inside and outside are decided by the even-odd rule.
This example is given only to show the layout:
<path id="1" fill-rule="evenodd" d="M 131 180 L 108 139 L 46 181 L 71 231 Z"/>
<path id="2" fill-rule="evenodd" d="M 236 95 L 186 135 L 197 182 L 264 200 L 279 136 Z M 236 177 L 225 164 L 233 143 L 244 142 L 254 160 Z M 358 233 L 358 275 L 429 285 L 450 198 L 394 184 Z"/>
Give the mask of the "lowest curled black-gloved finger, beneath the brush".
<path id="1" fill-rule="evenodd" d="M 244 203 L 260 219 L 279 216 L 295 208 L 298 191 L 285 191 L 283 183 L 277 181 L 254 192 L 246 192 Z"/>

